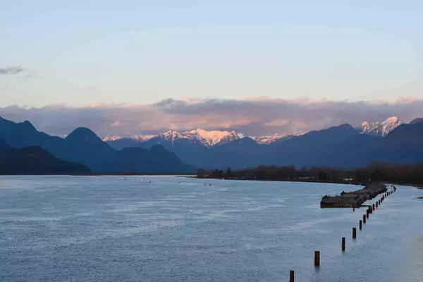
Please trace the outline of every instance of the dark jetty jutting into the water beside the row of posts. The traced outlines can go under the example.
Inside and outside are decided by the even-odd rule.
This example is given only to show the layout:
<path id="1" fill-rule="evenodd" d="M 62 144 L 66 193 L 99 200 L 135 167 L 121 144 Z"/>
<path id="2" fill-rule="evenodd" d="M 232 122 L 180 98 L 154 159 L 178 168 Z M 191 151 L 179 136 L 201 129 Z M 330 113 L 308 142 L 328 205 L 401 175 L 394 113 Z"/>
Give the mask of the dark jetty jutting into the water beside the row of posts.
<path id="1" fill-rule="evenodd" d="M 373 183 L 353 192 L 343 191 L 340 195 L 325 195 L 321 198 L 320 207 L 362 207 L 364 202 L 373 199 L 387 190 L 386 185 Z"/>

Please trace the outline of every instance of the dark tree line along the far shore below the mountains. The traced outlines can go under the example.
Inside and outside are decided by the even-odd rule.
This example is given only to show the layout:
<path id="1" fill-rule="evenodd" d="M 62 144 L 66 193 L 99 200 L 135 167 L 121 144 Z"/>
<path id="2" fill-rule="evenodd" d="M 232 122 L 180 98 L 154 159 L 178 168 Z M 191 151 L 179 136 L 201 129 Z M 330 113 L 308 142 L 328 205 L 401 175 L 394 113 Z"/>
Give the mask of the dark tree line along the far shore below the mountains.
<path id="1" fill-rule="evenodd" d="M 225 178 L 240 180 L 321 181 L 338 183 L 391 182 L 423 184 L 423 164 L 394 165 L 374 163 L 364 168 L 343 169 L 314 166 L 257 166 L 233 171 L 198 169 L 198 178 Z"/>

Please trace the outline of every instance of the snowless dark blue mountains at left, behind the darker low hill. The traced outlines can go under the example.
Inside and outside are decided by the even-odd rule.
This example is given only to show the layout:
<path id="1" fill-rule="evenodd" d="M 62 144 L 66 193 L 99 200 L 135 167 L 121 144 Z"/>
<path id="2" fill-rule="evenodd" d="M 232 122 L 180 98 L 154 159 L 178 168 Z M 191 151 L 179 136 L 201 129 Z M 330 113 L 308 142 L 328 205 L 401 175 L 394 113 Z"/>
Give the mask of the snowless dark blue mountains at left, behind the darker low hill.
<path id="1" fill-rule="evenodd" d="M 54 157 L 83 164 L 94 173 L 190 173 L 173 152 L 160 145 L 149 149 L 128 147 L 116 150 L 88 128 L 76 128 L 66 138 L 39 132 L 29 121 L 14 123 L 0 118 L 0 138 L 16 149 L 38 146 Z"/>

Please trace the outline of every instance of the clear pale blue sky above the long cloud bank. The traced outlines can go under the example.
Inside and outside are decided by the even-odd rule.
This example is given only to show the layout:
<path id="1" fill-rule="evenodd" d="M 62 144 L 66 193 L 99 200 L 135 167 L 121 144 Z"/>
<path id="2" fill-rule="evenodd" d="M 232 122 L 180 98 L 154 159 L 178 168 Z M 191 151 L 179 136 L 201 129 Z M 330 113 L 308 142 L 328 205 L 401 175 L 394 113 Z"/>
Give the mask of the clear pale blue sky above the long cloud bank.
<path id="1" fill-rule="evenodd" d="M 422 1 L 339 2 L 1 0 L 0 106 L 422 97 Z"/>

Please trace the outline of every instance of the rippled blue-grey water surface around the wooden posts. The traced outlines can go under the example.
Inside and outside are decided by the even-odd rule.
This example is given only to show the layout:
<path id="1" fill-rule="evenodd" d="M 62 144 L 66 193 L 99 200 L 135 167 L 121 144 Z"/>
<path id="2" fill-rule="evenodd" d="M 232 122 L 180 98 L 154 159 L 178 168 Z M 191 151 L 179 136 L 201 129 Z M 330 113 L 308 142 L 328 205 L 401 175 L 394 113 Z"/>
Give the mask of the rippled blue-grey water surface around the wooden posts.
<path id="1" fill-rule="evenodd" d="M 399 186 L 352 240 L 364 209 L 319 201 L 355 189 L 0 177 L 0 281 L 423 281 L 423 190 Z"/>

